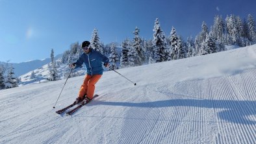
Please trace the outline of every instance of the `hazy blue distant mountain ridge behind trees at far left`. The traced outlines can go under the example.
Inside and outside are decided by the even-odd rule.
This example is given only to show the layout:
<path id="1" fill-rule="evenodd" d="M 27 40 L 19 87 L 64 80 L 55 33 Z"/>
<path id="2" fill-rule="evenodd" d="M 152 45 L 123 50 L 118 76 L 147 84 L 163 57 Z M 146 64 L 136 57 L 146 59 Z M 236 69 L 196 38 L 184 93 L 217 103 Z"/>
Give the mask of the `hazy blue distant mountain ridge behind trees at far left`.
<path id="1" fill-rule="evenodd" d="M 61 58 L 62 54 L 58 54 L 55 56 L 55 59 Z M 44 60 L 31 60 L 28 62 L 21 62 L 21 63 L 12 63 L 14 67 L 14 72 L 17 77 L 24 75 L 25 73 L 29 73 L 30 71 L 37 69 L 38 67 L 42 67 L 45 64 L 51 62 L 51 58 L 45 58 Z M 5 62 L 0 62 L 5 64 Z"/>

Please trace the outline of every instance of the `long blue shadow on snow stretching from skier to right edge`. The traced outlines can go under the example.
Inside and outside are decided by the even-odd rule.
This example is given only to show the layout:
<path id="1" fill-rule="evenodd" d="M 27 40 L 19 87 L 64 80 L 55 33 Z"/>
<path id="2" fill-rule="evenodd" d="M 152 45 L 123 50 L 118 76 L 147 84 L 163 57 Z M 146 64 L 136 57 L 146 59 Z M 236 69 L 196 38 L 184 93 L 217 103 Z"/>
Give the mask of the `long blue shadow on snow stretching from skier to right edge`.
<path id="1" fill-rule="evenodd" d="M 248 118 L 250 115 L 256 115 L 256 101 L 229 101 L 229 100 L 200 100 L 200 99 L 172 99 L 152 102 L 108 102 L 97 101 L 96 105 L 107 106 L 127 106 L 138 108 L 164 108 L 175 106 L 192 106 L 199 108 L 222 108 L 218 112 L 218 117 L 231 123 L 240 123 L 244 125 L 255 125 L 256 121 Z M 95 105 L 94 104 L 94 105 Z"/>

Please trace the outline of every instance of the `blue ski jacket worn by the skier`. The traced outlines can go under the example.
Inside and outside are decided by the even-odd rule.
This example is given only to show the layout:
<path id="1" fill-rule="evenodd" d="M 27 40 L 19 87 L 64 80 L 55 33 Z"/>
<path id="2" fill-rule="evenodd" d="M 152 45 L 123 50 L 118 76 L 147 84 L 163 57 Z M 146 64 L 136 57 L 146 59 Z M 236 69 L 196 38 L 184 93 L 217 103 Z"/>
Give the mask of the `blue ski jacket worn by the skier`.
<path id="1" fill-rule="evenodd" d="M 82 65 L 85 64 L 87 69 L 88 75 L 102 75 L 103 74 L 103 67 L 102 63 L 109 63 L 109 58 L 104 56 L 103 54 L 95 51 L 94 49 L 90 49 L 90 53 L 86 54 L 83 53 L 77 62 L 75 62 L 77 67 L 83 67 Z"/>

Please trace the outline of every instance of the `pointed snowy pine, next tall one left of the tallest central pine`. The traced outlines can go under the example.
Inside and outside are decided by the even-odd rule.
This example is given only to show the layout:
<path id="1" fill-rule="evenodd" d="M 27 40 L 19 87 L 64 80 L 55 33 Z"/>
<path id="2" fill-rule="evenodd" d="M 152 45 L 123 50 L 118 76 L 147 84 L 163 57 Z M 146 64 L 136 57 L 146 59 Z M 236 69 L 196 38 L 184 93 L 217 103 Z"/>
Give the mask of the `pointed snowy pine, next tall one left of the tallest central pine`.
<path id="1" fill-rule="evenodd" d="M 144 56 L 144 47 L 142 40 L 139 36 L 140 29 L 138 27 L 135 28 L 133 34 L 135 35 L 133 38 L 133 49 L 136 51 L 136 57 L 134 58 L 134 63 L 136 66 L 141 66 L 145 60 Z"/>

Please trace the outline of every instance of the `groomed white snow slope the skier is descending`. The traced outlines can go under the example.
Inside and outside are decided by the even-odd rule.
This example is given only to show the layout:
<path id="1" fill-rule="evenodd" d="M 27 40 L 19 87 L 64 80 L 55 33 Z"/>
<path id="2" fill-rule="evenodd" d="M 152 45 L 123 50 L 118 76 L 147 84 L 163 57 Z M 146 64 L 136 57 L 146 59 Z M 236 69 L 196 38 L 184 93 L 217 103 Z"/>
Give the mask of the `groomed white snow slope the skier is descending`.
<path id="1" fill-rule="evenodd" d="M 71 116 L 83 77 L 0 91 L 0 143 L 256 143 L 256 45 L 103 73 Z"/>

